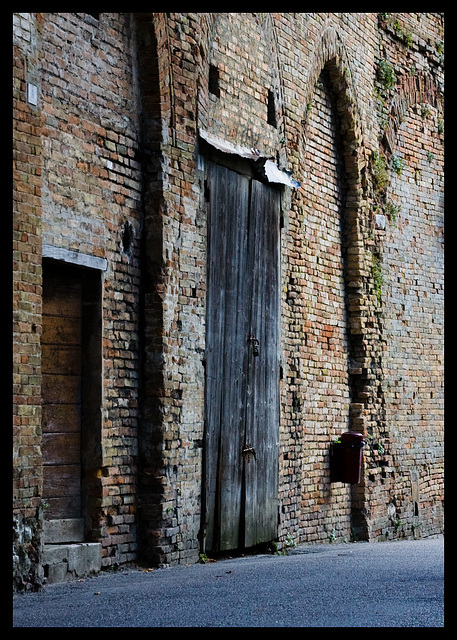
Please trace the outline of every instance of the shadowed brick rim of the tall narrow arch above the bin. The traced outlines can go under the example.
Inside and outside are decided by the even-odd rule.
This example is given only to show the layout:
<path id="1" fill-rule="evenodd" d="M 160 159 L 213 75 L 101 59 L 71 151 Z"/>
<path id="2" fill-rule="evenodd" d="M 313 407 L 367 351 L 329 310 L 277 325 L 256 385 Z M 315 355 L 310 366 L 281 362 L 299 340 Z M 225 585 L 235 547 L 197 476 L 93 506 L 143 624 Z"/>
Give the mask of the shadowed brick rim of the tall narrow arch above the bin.
<path id="1" fill-rule="evenodd" d="M 346 295 L 346 328 L 348 339 L 348 384 L 350 394 L 349 429 L 364 432 L 367 421 L 377 415 L 379 399 L 373 373 L 376 371 L 379 345 L 368 328 L 371 264 L 367 262 L 363 237 L 369 231 L 370 216 L 364 199 L 365 176 L 368 166 L 368 149 L 364 145 L 363 119 L 360 115 L 357 92 L 353 83 L 352 64 L 344 43 L 332 26 L 321 33 L 316 53 L 308 72 L 308 89 L 303 105 L 302 154 L 307 145 L 307 113 L 322 70 L 328 72 L 330 90 L 333 93 L 339 117 L 339 134 L 346 185 L 346 201 L 341 216 L 344 227 L 344 269 Z M 378 354 L 379 355 L 379 354 Z M 351 527 L 359 539 L 366 539 L 368 529 L 366 514 L 360 505 L 364 503 L 364 479 L 352 488 Z"/>

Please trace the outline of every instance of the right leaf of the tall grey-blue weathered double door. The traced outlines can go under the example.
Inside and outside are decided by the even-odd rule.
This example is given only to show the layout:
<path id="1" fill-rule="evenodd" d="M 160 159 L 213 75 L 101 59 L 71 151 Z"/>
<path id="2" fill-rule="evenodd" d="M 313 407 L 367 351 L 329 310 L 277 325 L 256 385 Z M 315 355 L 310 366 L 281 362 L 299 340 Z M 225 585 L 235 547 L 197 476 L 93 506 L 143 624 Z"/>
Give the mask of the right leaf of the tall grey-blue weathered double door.
<path id="1" fill-rule="evenodd" d="M 251 331 L 259 355 L 250 355 L 251 387 L 246 441 L 255 458 L 245 459 L 246 547 L 277 535 L 279 454 L 279 211 L 280 194 L 252 183 L 250 250 L 253 260 Z"/>

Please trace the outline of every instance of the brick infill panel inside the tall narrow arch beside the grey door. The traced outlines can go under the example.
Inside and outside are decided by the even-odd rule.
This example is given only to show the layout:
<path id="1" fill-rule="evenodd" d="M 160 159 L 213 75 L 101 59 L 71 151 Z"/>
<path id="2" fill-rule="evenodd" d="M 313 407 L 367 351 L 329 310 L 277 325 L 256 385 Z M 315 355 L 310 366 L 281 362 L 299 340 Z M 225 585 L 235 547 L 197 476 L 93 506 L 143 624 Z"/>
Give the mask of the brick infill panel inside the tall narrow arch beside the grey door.
<path id="1" fill-rule="evenodd" d="M 294 203 L 300 217 L 289 227 L 291 242 L 299 243 L 304 255 L 299 258 L 298 268 L 291 263 L 286 271 L 287 317 L 292 319 L 285 327 L 286 344 L 295 343 L 299 348 L 298 354 L 287 359 L 287 378 L 296 380 L 286 389 L 285 411 L 291 403 L 295 413 L 299 412 L 295 424 L 294 411 L 287 416 L 288 424 L 301 437 L 297 475 L 306 474 L 310 484 L 321 487 L 320 495 L 312 498 L 320 501 L 319 514 L 313 514 L 307 491 L 300 489 L 297 495 L 303 528 L 309 518 L 315 518 L 325 531 L 337 519 L 335 535 L 341 539 L 350 535 L 350 494 L 347 487 L 331 484 L 326 469 L 329 443 L 349 427 L 352 394 L 341 224 L 345 171 L 328 73 L 319 75 L 312 99 L 313 108 L 307 112 L 308 145 L 302 160 L 300 199 Z M 309 464 L 310 459 L 315 466 Z"/>

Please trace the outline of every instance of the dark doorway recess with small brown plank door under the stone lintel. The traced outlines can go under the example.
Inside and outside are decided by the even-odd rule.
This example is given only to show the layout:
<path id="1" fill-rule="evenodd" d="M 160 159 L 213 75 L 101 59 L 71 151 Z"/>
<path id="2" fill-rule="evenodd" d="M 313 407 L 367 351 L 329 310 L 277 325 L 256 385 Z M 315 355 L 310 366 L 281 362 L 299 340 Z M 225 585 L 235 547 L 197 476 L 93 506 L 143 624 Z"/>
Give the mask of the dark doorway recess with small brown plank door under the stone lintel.
<path id="1" fill-rule="evenodd" d="M 94 537 L 101 467 L 101 276 L 43 264 L 42 454 L 45 542 Z M 60 521 L 57 522 L 57 521 Z M 60 536 L 61 539 L 58 539 Z"/>

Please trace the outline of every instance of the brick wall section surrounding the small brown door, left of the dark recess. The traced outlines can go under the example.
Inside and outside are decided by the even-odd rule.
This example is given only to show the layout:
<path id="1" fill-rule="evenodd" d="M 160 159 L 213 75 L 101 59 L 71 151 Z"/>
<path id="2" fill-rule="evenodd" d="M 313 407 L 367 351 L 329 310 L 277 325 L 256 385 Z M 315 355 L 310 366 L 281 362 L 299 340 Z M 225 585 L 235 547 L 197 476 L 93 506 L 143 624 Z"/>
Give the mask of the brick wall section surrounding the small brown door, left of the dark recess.
<path id="1" fill-rule="evenodd" d="M 139 107 L 132 53 L 134 31 L 129 15 L 106 15 L 103 26 L 87 14 L 23 14 L 17 16 L 15 38 L 20 55 L 26 59 L 27 72 L 32 73 L 30 58 L 42 52 L 34 61 L 38 88 L 37 104 L 25 100 L 24 79 L 17 85 L 18 119 L 27 122 L 16 128 L 18 142 L 17 167 L 34 162 L 36 169 L 25 167 L 26 179 L 16 183 L 19 204 L 15 207 L 19 243 L 27 247 L 20 253 L 22 268 L 18 266 L 19 287 L 34 278 L 41 287 L 41 252 L 54 255 L 49 247 L 63 250 L 66 256 L 85 255 L 106 260 L 103 272 L 103 418 L 102 450 L 97 468 L 91 473 L 98 478 L 98 505 L 89 523 L 89 538 L 101 540 L 103 564 L 131 560 L 136 554 L 135 484 L 138 420 L 139 378 L 139 274 L 141 238 L 141 172 L 138 161 Z M 25 25 L 25 29 L 24 29 Z M 38 33 L 39 28 L 39 33 Z M 22 46 L 22 31 L 34 34 L 30 52 Z M 18 58 L 18 65 L 22 62 Z M 20 67 L 19 67 L 20 68 Z M 20 111 L 21 109 L 21 111 Z M 27 114 L 27 111 L 29 114 Z M 27 118 L 22 117 L 27 114 Z M 34 134 L 34 138 L 32 135 Z M 26 148 L 28 144 L 28 148 Z M 28 155 L 26 155 L 28 154 Z M 35 155 L 36 160 L 32 158 Z M 37 178 L 39 176 L 39 178 Z M 39 183 L 37 180 L 39 179 Z M 24 200 L 27 187 L 29 192 Z M 35 202 L 33 195 L 36 193 Z M 26 205 L 21 205 L 20 201 Z M 20 217 L 21 207 L 27 207 L 27 219 Z M 37 210 L 35 229 L 31 209 Z M 22 214 L 21 214 L 22 215 Z M 39 227 L 37 223 L 39 222 Z M 34 242 L 33 235 L 37 234 Z M 19 245 L 19 251 L 21 247 Z M 27 258 L 27 254 L 29 258 Z M 37 263 L 31 264 L 30 258 Z M 70 258 L 71 260 L 71 258 Z M 15 265 L 16 266 L 16 265 Z M 36 444 L 32 458 L 32 432 L 29 428 L 29 451 L 20 449 L 18 473 L 26 475 L 30 466 L 38 474 L 40 468 L 40 296 L 37 291 L 32 306 L 31 284 L 26 295 L 28 307 L 36 315 L 33 322 L 23 305 L 17 307 L 17 327 L 28 332 L 26 340 L 17 340 L 22 379 L 20 400 L 34 389 L 34 394 L 17 405 L 21 422 L 17 442 L 23 442 L 24 419 L 34 424 Z M 21 294 L 24 297 L 24 294 Z M 27 326 L 30 317 L 32 330 Z M 35 386 L 32 378 L 30 346 L 36 342 Z M 26 347 L 25 343 L 29 346 Z M 25 355 L 30 352 L 30 355 Z M 28 380 L 24 382 L 28 360 Z M 33 397 L 34 396 L 34 397 Z M 26 407 L 27 410 L 26 410 Z M 31 416 L 34 415 L 34 418 Z M 30 471 L 29 473 L 32 473 Z M 24 483 L 25 480 L 22 481 Z M 31 490 L 29 489 L 29 493 Z M 33 511 L 40 503 L 40 485 L 34 501 L 27 500 L 21 513 Z M 18 503 L 21 504 L 21 503 Z M 36 507 L 35 507 L 36 508 Z M 34 514 L 36 516 L 36 514 Z M 39 516 L 37 516 L 40 519 Z"/>

